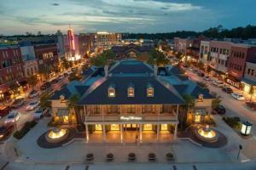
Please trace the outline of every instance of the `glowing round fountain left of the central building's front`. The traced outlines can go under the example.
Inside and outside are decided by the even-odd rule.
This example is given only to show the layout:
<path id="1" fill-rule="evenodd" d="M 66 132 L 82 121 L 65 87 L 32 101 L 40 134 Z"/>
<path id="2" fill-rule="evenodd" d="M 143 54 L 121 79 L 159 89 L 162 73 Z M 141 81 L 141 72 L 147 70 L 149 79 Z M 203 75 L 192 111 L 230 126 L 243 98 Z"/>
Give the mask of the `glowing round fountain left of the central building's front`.
<path id="1" fill-rule="evenodd" d="M 67 128 L 54 128 L 45 134 L 45 139 L 49 143 L 58 143 L 64 139 L 67 139 L 68 129 Z"/>

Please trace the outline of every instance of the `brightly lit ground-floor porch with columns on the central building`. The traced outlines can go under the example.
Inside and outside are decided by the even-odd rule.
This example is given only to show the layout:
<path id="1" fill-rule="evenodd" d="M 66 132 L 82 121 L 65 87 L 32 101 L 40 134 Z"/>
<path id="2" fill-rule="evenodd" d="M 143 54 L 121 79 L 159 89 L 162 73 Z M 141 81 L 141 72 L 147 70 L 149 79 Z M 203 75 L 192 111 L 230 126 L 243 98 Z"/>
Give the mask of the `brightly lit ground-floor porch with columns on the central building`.
<path id="1" fill-rule="evenodd" d="M 172 143 L 177 123 L 85 124 L 88 143 Z"/>

